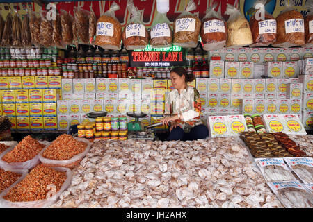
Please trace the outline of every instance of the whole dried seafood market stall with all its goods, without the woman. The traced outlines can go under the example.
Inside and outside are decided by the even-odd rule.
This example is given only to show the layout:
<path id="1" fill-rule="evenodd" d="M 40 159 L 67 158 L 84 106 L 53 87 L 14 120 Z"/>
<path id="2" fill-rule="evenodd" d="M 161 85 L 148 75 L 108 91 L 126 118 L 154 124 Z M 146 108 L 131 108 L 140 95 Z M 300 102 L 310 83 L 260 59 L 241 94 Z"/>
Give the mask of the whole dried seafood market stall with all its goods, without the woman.
<path id="1" fill-rule="evenodd" d="M 101 2 L 1 8 L 0 207 L 312 208 L 310 4 Z M 177 66 L 207 139 L 163 141 Z"/>

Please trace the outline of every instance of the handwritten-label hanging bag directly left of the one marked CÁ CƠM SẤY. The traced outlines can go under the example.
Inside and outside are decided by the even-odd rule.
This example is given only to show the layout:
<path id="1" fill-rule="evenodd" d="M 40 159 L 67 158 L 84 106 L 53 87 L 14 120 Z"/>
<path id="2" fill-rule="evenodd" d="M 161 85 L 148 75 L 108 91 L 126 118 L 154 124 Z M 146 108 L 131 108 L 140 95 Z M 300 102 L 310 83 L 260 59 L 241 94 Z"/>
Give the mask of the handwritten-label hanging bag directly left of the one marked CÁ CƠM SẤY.
<path id="1" fill-rule="evenodd" d="M 172 46 L 172 29 L 166 13 L 158 12 L 150 31 L 150 44 L 154 48 Z"/>

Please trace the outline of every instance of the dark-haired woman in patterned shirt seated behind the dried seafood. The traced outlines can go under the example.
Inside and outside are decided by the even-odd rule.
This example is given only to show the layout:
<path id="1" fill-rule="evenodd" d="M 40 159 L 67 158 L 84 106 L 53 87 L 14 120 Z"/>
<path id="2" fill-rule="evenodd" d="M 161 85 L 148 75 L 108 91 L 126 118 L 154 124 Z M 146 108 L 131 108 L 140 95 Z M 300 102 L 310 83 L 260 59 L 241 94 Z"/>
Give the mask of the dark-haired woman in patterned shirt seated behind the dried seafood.
<path id="1" fill-rule="evenodd" d="M 166 140 L 206 139 L 209 130 L 200 120 L 201 101 L 197 89 L 187 85 L 194 80 L 193 74 L 187 74 L 183 67 L 170 71 L 170 80 L 175 88 L 168 94 L 165 104 L 165 117 L 161 123 L 169 125 L 169 136 Z"/>

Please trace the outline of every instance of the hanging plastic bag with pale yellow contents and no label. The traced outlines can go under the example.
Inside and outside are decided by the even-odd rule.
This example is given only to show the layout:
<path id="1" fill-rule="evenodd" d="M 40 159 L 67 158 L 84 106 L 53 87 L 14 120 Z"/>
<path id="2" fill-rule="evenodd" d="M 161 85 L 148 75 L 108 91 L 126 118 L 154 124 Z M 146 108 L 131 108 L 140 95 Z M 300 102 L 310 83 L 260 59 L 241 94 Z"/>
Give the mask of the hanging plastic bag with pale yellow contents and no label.
<path id="1" fill-rule="evenodd" d="M 226 15 L 230 15 L 227 21 L 226 47 L 242 47 L 253 43 L 249 23 L 241 12 L 234 6 L 227 4 Z"/>

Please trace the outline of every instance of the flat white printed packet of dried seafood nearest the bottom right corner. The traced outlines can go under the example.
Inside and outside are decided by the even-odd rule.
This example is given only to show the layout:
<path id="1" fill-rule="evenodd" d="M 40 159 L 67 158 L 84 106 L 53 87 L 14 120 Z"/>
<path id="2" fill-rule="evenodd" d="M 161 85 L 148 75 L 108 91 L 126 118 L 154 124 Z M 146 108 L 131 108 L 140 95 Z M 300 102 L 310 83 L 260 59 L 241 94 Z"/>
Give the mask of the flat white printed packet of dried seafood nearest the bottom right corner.
<path id="1" fill-rule="evenodd" d="M 298 181 L 268 182 L 267 185 L 287 208 L 312 208 L 313 195 Z"/>

